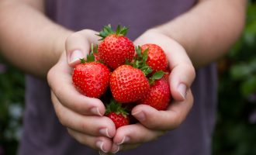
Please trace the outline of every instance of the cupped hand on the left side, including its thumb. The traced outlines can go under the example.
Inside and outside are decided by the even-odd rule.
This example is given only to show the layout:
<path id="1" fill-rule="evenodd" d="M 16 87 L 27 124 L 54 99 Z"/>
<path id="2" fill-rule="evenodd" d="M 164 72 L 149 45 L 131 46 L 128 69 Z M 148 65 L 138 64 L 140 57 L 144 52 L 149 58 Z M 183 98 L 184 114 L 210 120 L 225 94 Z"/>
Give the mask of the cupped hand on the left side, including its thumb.
<path id="1" fill-rule="evenodd" d="M 47 74 L 51 98 L 58 119 L 67 127 L 68 133 L 78 142 L 95 150 L 109 152 L 111 138 L 116 128 L 111 119 L 102 116 L 105 106 L 98 98 L 81 95 L 72 84 L 74 65 L 80 63 L 90 51 L 91 43 L 97 44 L 99 37 L 92 30 L 71 34 L 66 40 L 66 52 Z"/>

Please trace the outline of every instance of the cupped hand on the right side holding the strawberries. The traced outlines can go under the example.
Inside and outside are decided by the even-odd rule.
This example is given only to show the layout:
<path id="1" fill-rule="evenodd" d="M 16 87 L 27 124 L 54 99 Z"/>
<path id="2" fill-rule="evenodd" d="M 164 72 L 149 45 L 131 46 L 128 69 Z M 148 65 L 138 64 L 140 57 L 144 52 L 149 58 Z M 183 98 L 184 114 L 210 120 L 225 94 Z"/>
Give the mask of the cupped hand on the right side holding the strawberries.
<path id="1" fill-rule="evenodd" d="M 112 153 L 136 148 L 177 128 L 185 120 L 193 104 L 190 86 L 195 79 L 195 68 L 185 49 L 175 40 L 155 29 L 148 30 L 134 43 L 136 45 L 155 43 L 163 48 L 168 57 L 168 67 L 171 69 L 169 83 L 173 99 L 167 111 L 157 111 L 149 105 L 134 107 L 132 115 L 140 123 L 122 126 L 116 130 Z"/>

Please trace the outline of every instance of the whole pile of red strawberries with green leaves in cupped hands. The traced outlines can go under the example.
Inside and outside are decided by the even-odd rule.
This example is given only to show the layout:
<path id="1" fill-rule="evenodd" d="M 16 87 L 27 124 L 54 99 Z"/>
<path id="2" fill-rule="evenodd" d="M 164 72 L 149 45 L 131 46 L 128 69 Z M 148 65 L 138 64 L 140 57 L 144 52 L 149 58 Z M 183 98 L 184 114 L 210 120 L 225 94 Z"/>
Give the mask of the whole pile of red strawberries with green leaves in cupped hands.
<path id="1" fill-rule="evenodd" d="M 87 60 L 74 67 L 72 80 L 81 94 L 100 98 L 106 105 L 106 116 L 116 128 L 131 122 L 134 105 L 150 105 L 166 110 L 171 100 L 168 84 L 168 60 L 153 43 L 135 47 L 126 37 L 127 28 L 104 26 Z"/>

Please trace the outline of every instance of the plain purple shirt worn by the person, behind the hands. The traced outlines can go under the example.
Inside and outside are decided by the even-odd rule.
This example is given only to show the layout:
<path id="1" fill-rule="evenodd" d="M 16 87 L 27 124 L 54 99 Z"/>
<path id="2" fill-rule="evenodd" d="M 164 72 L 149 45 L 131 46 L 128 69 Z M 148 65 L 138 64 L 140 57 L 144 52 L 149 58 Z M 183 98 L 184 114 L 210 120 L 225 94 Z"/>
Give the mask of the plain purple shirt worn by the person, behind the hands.
<path id="1" fill-rule="evenodd" d="M 195 5 L 195 0 L 47 0 L 50 19 L 68 29 L 95 29 L 111 23 L 130 27 L 131 40 L 146 29 L 174 19 Z M 189 24 L 188 24 L 189 26 Z M 196 71 L 192 84 L 194 105 L 182 125 L 158 140 L 121 152 L 123 155 L 209 155 L 216 112 L 216 67 Z M 26 76 L 26 111 L 20 155 L 92 155 L 97 151 L 68 135 L 50 101 L 47 81 Z"/>

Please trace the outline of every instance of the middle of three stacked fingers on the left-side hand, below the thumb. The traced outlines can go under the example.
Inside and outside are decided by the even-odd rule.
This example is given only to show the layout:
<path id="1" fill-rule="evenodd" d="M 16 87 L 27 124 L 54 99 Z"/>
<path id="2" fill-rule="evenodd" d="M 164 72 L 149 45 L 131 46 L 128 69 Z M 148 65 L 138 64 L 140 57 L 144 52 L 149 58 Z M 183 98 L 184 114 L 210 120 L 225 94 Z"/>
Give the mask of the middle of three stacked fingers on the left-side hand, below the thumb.
<path id="1" fill-rule="evenodd" d="M 115 124 L 108 117 L 80 115 L 65 108 L 52 94 L 54 109 L 63 126 L 90 136 L 107 136 L 112 138 L 116 133 Z"/>

